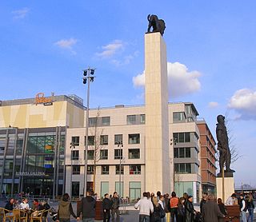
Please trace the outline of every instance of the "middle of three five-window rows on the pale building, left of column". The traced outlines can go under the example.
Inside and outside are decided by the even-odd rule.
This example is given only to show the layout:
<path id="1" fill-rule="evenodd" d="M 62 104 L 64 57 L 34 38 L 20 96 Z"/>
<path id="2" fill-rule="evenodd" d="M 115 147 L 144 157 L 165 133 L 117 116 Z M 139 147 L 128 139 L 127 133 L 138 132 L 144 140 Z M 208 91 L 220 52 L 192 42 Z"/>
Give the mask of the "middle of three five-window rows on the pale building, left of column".
<path id="1" fill-rule="evenodd" d="M 88 150 L 87 151 L 87 160 L 94 160 L 94 159 L 100 159 L 100 160 L 108 160 L 108 149 L 102 149 L 99 150 L 99 153 L 95 152 L 94 150 Z M 86 155 L 84 155 L 85 157 Z M 71 158 L 73 161 L 79 160 L 79 150 L 73 150 Z M 128 159 L 139 159 L 140 158 L 140 149 L 128 149 Z M 122 149 L 114 149 L 114 160 L 122 159 Z"/>

